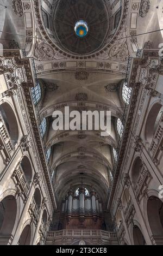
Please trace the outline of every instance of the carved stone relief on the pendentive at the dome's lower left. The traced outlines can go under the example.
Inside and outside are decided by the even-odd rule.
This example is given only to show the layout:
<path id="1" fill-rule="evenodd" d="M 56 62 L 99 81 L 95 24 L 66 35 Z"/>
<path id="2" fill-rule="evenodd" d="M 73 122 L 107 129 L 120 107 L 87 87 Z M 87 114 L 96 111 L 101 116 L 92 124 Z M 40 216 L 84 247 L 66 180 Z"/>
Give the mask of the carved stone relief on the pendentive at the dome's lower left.
<path id="1" fill-rule="evenodd" d="M 37 44 L 35 49 L 35 57 L 38 61 L 48 61 L 53 59 L 54 51 L 52 47 L 45 43 Z"/>

